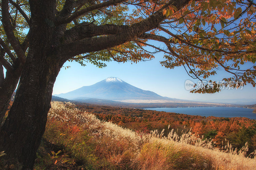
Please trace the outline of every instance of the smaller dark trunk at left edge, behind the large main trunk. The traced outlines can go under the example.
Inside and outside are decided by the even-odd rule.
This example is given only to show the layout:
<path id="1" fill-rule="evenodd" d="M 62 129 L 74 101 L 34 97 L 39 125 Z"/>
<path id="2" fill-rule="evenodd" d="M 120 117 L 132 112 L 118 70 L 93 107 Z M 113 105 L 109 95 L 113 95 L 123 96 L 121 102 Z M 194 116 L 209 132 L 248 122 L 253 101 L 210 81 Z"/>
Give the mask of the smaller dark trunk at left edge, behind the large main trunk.
<path id="1" fill-rule="evenodd" d="M 0 127 L 8 109 L 12 94 L 18 84 L 20 73 L 21 66 L 16 70 L 6 71 L 5 78 L 2 80 L 2 84 L 0 84 Z"/>

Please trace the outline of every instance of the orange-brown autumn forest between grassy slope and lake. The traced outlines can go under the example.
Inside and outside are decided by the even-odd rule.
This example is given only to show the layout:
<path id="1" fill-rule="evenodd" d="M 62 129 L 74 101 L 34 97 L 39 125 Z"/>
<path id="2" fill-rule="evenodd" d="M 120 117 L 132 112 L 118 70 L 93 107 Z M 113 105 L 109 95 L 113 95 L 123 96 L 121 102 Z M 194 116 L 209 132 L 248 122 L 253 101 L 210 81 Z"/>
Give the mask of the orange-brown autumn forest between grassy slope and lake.
<path id="1" fill-rule="evenodd" d="M 144 109 L 86 106 L 82 103 L 77 104 L 77 107 L 96 115 L 100 120 L 117 123 L 126 128 L 136 130 L 147 127 L 148 130 L 160 131 L 167 129 L 169 124 L 173 129 L 183 129 L 186 126 L 186 129 L 192 128 L 191 131 L 197 135 L 211 137 L 220 147 L 226 138 L 238 148 L 248 141 L 253 150 L 252 136 L 256 133 L 256 121 L 246 117 L 203 117 Z M 180 134 L 181 130 L 177 133 Z"/>

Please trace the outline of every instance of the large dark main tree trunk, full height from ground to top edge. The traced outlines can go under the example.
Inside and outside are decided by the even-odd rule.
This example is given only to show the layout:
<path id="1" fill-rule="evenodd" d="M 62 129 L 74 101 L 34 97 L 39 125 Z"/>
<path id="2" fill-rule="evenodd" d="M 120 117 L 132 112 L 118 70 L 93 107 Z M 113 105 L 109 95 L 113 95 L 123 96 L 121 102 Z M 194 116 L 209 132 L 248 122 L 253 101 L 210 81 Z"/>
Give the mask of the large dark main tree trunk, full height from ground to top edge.
<path id="1" fill-rule="evenodd" d="M 51 107 L 53 85 L 65 61 L 52 45 L 56 2 L 29 3 L 33 38 L 14 102 L 0 129 L 0 151 L 6 153 L 4 159 L 17 159 L 23 168 L 33 169 Z"/>

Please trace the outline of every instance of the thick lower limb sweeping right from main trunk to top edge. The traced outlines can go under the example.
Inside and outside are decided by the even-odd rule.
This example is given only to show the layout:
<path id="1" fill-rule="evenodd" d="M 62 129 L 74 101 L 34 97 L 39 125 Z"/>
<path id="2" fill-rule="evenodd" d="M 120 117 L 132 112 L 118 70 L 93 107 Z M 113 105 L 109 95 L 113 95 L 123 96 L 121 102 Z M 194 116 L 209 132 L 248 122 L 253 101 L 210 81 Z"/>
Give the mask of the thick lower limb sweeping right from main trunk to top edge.
<path id="1" fill-rule="evenodd" d="M 103 37 L 85 38 L 83 40 L 72 42 L 67 45 L 63 45 L 60 48 L 60 52 L 63 56 L 66 55 L 66 59 L 68 59 L 79 54 L 100 51 L 132 41 L 142 33 L 155 29 L 159 23 L 165 19 L 165 16 L 162 13 L 164 8 L 167 8 L 169 5 L 174 5 L 179 10 L 188 4 L 188 2 L 189 0 L 169 1 L 169 3 L 165 4 L 161 9 L 156 11 L 147 19 L 129 26 L 129 28 L 120 33 Z"/>

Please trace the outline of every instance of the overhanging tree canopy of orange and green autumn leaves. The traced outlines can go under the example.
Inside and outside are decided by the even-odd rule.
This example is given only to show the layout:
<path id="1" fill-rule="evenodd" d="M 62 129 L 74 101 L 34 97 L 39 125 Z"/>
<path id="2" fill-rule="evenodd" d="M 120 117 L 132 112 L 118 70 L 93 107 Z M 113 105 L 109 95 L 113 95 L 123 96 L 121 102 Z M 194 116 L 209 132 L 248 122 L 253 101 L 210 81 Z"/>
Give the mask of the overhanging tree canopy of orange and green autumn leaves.
<path id="1" fill-rule="evenodd" d="M 166 68 L 182 66 L 192 78 L 207 79 L 223 69 L 231 74 L 223 77 L 222 85 L 237 86 L 243 82 L 255 86 L 255 3 L 245 1 L 56 1 L 55 21 L 45 20 L 50 26 L 65 25 L 60 39 L 53 42 L 67 60 L 85 65 L 91 62 L 105 67 L 106 61 L 138 62 L 154 58 L 164 52 L 161 64 Z M 178 9 L 179 8 L 179 9 Z M 24 63 L 28 51 L 30 4 L 27 0 L 9 1 L 6 23 L 1 23 L 1 64 L 8 70 L 13 64 Z M 162 12 L 162 21 L 154 29 L 148 29 L 136 38 L 116 39 L 117 34 L 152 18 Z M 128 32 L 126 32 L 128 36 Z M 8 40 L 8 38 L 10 40 Z M 116 44 L 107 43 L 115 37 Z M 98 40 L 93 48 L 86 43 Z M 165 46 L 156 47 L 148 40 L 160 41 Z M 151 41 L 150 41 L 151 42 Z M 106 43 L 108 46 L 103 47 Z M 18 47 L 15 44 L 20 44 Z M 154 51 L 148 51 L 153 47 Z M 78 49 L 75 49 L 78 48 Z M 75 49 L 75 50 L 74 50 Z M 251 63 L 243 67 L 244 63 Z M 207 79 L 208 80 L 208 79 Z M 192 92 L 218 92 L 217 82 L 212 90 L 197 89 Z"/>

